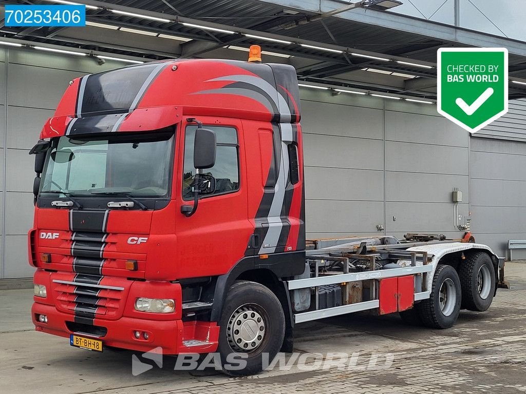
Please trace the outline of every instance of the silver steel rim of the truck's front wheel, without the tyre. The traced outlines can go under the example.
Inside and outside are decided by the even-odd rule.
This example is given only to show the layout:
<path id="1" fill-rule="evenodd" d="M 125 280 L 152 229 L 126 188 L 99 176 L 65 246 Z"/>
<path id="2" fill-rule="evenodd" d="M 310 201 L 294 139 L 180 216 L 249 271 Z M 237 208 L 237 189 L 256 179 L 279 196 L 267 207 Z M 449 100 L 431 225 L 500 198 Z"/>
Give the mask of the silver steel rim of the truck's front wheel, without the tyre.
<path id="1" fill-rule="evenodd" d="M 261 306 L 241 305 L 228 319 L 227 339 L 230 347 L 244 353 L 257 351 L 266 339 L 267 325 Z"/>

